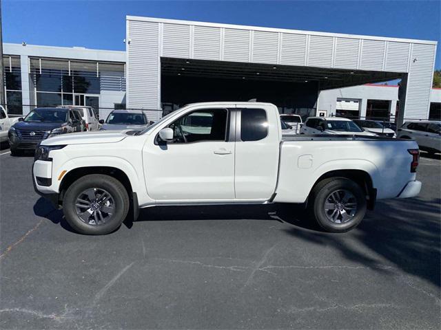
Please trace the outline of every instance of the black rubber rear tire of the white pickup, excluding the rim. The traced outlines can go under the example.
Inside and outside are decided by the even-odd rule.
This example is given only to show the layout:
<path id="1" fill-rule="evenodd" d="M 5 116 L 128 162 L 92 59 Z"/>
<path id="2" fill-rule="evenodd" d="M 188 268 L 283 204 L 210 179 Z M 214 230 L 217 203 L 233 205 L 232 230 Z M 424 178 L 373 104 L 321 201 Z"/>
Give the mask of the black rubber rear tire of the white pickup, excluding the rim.
<path id="1" fill-rule="evenodd" d="M 353 217 L 346 222 L 336 223 L 328 219 L 325 203 L 332 192 L 346 190 L 356 199 L 356 211 Z M 318 225 L 327 232 L 347 232 L 355 228 L 365 217 L 367 201 L 366 194 L 356 182 L 345 177 L 331 177 L 320 181 L 311 192 L 309 210 Z M 329 212 L 333 212 L 332 210 Z"/>

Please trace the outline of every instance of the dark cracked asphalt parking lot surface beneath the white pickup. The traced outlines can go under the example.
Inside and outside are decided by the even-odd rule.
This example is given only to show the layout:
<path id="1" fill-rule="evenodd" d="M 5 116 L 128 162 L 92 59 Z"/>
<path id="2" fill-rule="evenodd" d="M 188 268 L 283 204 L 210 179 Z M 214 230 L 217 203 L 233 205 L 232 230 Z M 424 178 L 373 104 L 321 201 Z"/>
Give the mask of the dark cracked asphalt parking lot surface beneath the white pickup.
<path id="1" fill-rule="evenodd" d="M 293 206 L 143 210 L 70 230 L 0 151 L 1 329 L 439 329 L 441 160 L 422 192 L 326 234 Z"/>

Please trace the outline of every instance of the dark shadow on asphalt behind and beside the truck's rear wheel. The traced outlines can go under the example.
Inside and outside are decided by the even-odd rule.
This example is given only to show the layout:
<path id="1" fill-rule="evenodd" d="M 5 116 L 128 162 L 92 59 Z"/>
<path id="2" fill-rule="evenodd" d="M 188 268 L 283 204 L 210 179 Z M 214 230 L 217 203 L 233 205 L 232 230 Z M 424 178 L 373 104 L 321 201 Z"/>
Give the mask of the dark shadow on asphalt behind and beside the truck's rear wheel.
<path id="1" fill-rule="evenodd" d="M 440 287 L 440 203 L 439 198 L 431 201 L 419 198 L 380 201 L 375 212 L 369 212 L 358 228 L 346 234 L 307 232 L 296 228 L 286 231 L 298 239 L 332 246 L 350 261 L 375 266 L 378 261 L 360 252 L 363 249 L 354 250 L 352 244 L 346 243 L 344 238 L 350 236 L 404 272 Z M 378 270 L 378 267 L 373 268 Z"/>

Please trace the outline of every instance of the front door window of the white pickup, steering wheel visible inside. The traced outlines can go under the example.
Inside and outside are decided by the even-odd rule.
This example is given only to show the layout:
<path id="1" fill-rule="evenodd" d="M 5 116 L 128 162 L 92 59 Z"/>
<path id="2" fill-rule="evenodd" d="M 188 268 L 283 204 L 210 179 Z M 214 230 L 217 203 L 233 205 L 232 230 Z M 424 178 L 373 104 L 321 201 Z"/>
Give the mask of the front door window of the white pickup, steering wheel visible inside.
<path id="1" fill-rule="evenodd" d="M 187 113 L 172 124 L 173 143 L 225 141 L 227 109 L 201 109 Z"/>

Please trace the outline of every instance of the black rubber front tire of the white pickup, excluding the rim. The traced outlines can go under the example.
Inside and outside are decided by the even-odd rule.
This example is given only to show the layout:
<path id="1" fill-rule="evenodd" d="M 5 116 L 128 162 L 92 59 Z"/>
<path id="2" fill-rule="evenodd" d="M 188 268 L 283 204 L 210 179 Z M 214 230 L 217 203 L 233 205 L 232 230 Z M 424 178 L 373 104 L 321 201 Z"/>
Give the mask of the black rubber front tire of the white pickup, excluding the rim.
<path id="1" fill-rule="evenodd" d="M 76 200 L 79 195 L 90 188 L 106 190 L 112 195 L 114 212 L 105 223 L 97 225 L 85 223 L 76 213 Z M 66 190 L 63 198 L 63 212 L 70 226 L 81 234 L 103 235 L 113 232 L 124 221 L 129 210 L 130 201 L 123 184 L 109 175 L 85 175 L 74 181 Z"/>

